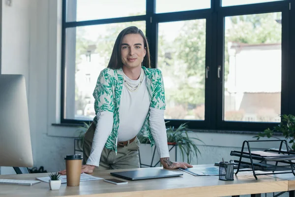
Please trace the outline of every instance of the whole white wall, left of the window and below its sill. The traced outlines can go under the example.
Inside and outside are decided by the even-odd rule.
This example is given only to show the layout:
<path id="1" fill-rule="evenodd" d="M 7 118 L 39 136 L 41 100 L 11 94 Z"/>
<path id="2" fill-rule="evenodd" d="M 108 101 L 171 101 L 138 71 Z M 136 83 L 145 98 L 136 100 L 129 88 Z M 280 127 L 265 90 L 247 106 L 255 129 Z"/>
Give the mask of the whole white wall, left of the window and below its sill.
<path id="1" fill-rule="evenodd" d="M 77 128 L 52 126 L 60 120 L 61 0 L 13 0 L 11 7 L 3 1 L 2 14 L 1 69 L 26 77 L 34 166 L 49 172 L 64 169 L 63 157 L 73 154 Z M 200 146 L 198 164 L 209 164 L 229 160 L 230 151 L 254 134 L 193 135 L 206 144 Z"/>

